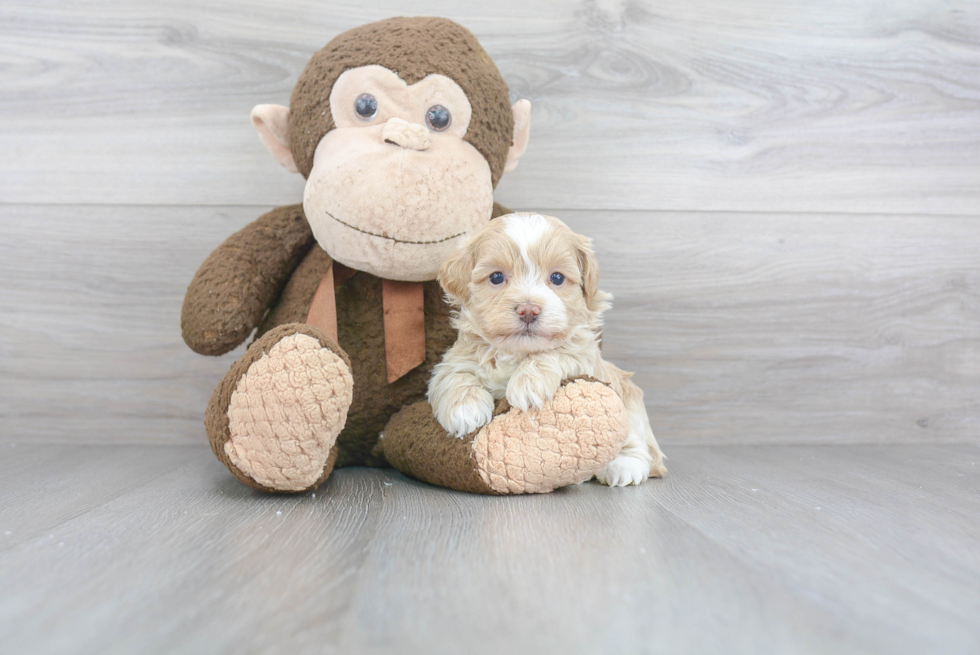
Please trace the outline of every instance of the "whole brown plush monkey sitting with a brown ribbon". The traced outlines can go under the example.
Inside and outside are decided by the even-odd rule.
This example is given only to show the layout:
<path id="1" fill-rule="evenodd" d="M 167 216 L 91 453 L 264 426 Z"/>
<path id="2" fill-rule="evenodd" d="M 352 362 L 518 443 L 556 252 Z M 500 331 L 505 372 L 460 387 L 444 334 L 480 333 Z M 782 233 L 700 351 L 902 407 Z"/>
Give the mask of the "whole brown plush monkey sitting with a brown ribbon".
<path id="1" fill-rule="evenodd" d="M 236 478 L 299 492 L 337 466 L 387 462 L 455 489 L 527 493 L 612 460 L 625 411 L 594 380 L 568 381 L 534 412 L 503 402 L 462 439 L 424 401 L 455 340 L 436 274 L 468 234 L 506 213 L 493 189 L 527 147 L 529 119 L 530 103 L 511 106 L 476 38 L 441 18 L 345 32 L 313 56 L 289 108 L 252 111 L 276 160 L 307 179 L 303 204 L 219 246 L 181 318 L 184 340 L 205 355 L 257 328 L 205 419 Z"/>

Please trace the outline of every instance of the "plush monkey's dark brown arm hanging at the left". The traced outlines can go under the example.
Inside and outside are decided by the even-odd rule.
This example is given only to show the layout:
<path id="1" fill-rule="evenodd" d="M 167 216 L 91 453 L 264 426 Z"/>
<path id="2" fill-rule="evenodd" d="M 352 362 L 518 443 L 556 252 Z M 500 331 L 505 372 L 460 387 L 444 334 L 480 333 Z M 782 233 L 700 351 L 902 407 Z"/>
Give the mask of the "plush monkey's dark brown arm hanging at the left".
<path id="1" fill-rule="evenodd" d="M 313 243 L 302 205 L 273 209 L 228 237 L 184 296 L 184 342 L 222 355 L 245 341 Z"/>

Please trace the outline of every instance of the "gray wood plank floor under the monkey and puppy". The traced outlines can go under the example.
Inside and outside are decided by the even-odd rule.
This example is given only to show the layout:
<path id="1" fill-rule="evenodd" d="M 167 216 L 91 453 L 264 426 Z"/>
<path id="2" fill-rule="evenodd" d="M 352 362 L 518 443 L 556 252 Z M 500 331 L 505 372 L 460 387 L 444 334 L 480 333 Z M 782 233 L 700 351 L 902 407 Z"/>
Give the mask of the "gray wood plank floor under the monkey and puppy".
<path id="1" fill-rule="evenodd" d="M 0 652 L 980 649 L 977 445 L 675 446 L 663 481 L 517 498 L 0 447 Z"/>

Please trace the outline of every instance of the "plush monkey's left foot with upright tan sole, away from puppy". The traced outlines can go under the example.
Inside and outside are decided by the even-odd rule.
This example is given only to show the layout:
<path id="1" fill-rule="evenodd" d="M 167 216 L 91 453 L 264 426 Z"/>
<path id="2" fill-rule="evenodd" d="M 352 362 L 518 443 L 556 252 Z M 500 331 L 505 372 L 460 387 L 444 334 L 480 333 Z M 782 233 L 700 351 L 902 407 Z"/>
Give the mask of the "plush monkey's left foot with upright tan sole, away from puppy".
<path id="1" fill-rule="evenodd" d="M 353 388 L 350 360 L 321 330 L 277 327 L 215 389 L 205 418 L 211 448 L 255 489 L 314 489 L 333 470 Z"/>

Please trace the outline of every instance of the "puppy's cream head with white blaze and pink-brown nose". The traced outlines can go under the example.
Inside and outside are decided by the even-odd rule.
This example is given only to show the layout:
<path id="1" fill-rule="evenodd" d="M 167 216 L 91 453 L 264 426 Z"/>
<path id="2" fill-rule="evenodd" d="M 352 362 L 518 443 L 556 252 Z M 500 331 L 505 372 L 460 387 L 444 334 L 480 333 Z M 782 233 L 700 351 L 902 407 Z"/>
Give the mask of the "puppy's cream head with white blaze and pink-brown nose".
<path id="1" fill-rule="evenodd" d="M 446 260 L 439 282 L 460 308 L 460 330 L 504 350 L 550 350 L 576 331 L 597 334 L 608 308 L 591 241 L 541 214 L 491 221 Z"/>

